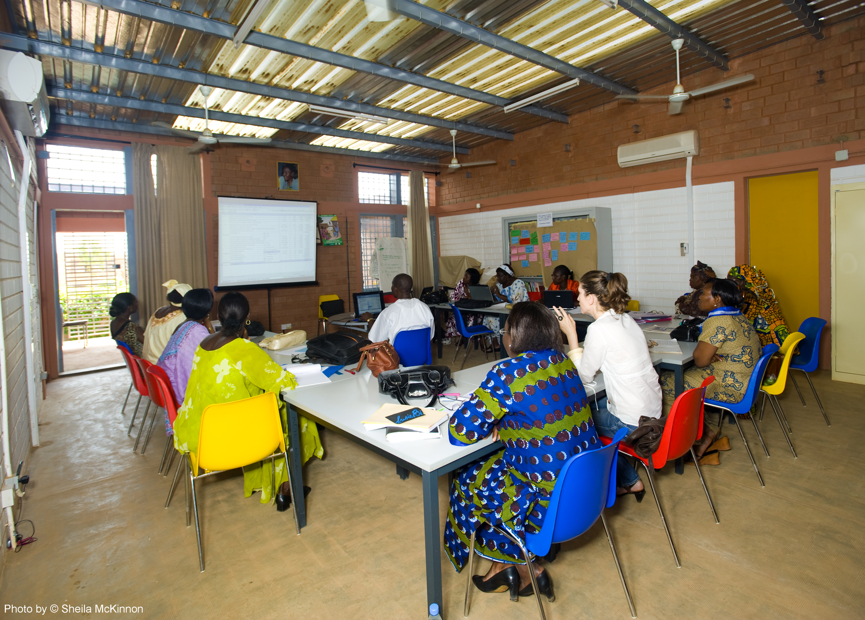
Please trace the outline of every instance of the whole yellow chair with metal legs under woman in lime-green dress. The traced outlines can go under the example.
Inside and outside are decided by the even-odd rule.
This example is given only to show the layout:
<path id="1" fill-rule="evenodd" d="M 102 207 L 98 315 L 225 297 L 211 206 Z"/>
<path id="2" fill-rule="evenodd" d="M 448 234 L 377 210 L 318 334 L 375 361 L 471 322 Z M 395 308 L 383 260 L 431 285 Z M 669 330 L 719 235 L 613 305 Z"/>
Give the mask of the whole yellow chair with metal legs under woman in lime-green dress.
<path id="1" fill-rule="evenodd" d="M 279 450 L 279 452 L 277 452 Z M 192 508 L 195 512 L 195 536 L 198 539 L 198 562 L 204 572 L 202 532 L 198 521 L 198 499 L 195 496 L 195 481 L 225 470 L 236 470 L 244 465 L 258 463 L 266 458 L 285 458 L 288 485 L 292 490 L 294 524 L 298 525 L 298 503 L 294 501 L 292 470 L 285 451 L 285 437 L 279 421 L 279 406 L 272 392 L 205 407 L 202 412 L 201 429 L 198 432 L 198 452 L 188 452 L 189 471 L 187 484 L 192 489 Z M 275 465 L 276 463 L 272 463 Z M 198 470 L 204 470 L 198 475 Z M 276 493 L 276 474 L 273 470 L 273 492 Z M 186 526 L 189 527 L 189 495 L 187 495 Z"/>

